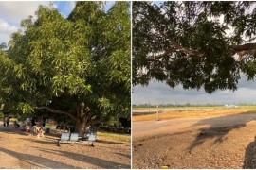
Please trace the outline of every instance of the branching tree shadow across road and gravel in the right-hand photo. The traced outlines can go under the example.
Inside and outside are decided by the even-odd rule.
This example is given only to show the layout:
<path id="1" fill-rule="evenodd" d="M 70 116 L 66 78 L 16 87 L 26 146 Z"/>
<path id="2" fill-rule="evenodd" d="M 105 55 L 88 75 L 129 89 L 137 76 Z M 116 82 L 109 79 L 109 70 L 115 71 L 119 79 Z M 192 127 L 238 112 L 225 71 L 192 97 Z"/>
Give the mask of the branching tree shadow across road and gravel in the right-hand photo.
<path id="1" fill-rule="evenodd" d="M 248 122 L 255 120 L 256 114 L 252 111 L 200 120 L 196 124 L 193 124 L 192 127 L 210 127 L 199 129 L 200 132 L 197 134 L 196 139 L 192 142 L 188 150 L 191 152 L 194 147 L 203 144 L 209 139 L 215 139 L 213 144 L 223 143 L 227 140 L 227 134 L 230 131 L 246 127 Z"/>

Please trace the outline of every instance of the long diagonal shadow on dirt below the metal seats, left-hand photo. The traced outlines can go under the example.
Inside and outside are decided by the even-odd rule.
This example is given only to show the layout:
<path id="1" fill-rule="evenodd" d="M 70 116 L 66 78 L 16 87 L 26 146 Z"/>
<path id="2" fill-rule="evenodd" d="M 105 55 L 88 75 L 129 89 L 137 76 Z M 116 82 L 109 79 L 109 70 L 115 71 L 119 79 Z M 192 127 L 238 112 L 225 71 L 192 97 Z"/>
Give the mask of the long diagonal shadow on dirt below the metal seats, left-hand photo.
<path id="1" fill-rule="evenodd" d="M 35 147 L 35 148 L 37 148 L 37 147 Z M 107 160 L 103 160 L 101 158 L 95 158 L 95 157 L 91 157 L 88 155 L 66 152 L 63 150 L 42 149 L 42 148 L 37 148 L 37 149 L 41 150 L 41 151 L 46 151 L 46 152 L 49 152 L 52 154 L 61 155 L 66 158 L 73 159 L 75 161 L 82 161 L 82 162 L 85 161 L 87 163 L 100 166 L 102 169 L 131 169 L 131 166 L 127 165 L 127 164 L 122 164 L 122 163 L 118 163 L 115 161 L 107 161 Z"/>

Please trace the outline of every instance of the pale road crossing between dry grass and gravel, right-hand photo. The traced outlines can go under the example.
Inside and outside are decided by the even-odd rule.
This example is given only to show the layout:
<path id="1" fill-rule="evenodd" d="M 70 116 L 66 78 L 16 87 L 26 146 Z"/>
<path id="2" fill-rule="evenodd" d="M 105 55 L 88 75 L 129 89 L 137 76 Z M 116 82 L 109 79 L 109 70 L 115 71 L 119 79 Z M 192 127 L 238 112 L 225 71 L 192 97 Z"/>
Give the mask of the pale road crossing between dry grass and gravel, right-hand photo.
<path id="1" fill-rule="evenodd" d="M 199 129 L 202 127 L 227 127 L 244 125 L 256 120 L 256 113 L 231 114 L 227 116 L 211 116 L 207 118 L 178 118 L 162 121 L 141 121 L 133 123 L 133 137 L 152 136 L 159 133 L 174 133 Z"/>

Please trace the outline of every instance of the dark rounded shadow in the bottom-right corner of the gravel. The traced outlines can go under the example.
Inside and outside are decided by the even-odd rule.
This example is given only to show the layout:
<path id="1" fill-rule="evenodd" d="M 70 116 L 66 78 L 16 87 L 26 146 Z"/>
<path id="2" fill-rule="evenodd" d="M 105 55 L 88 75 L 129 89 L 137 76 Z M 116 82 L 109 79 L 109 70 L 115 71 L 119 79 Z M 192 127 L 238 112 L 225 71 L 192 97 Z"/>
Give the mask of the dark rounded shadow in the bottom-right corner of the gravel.
<path id="1" fill-rule="evenodd" d="M 256 136 L 247 145 L 243 169 L 256 169 Z"/>

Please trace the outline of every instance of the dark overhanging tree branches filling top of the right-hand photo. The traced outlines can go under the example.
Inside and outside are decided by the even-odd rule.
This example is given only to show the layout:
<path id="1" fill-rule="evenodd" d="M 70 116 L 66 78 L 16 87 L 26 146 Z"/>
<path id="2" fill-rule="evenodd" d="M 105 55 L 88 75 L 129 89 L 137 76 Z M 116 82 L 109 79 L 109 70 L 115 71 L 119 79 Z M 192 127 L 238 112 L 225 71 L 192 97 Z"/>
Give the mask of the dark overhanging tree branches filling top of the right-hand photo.
<path id="1" fill-rule="evenodd" d="M 236 90 L 256 74 L 255 2 L 133 3 L 133 84 Z"/>

